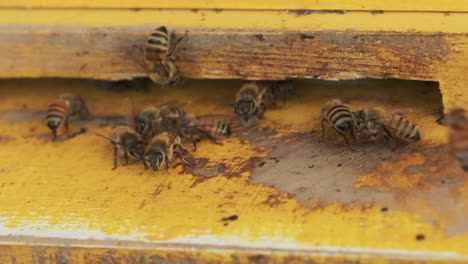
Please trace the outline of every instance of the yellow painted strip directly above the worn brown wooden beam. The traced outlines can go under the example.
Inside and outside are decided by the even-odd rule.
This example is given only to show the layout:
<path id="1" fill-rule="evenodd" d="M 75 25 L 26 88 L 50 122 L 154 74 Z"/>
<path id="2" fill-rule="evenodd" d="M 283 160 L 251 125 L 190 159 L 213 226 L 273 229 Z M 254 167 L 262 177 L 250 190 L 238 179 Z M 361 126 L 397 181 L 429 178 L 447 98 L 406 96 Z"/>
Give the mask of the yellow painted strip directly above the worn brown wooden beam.
<path id="1" fill-rule="evenodd" d="M 259 10 L 0 9 L 0 25 L 141 26 L 169 28 L 356 30 L 465 33 L 464 13 L 347 12 L 297 15 Z M 3 29 L 5 30 L 5 29 Z M 45 33 L 45 32 L 44 32 Z M 213 32 L 216 34 L 216 32 Z"/>

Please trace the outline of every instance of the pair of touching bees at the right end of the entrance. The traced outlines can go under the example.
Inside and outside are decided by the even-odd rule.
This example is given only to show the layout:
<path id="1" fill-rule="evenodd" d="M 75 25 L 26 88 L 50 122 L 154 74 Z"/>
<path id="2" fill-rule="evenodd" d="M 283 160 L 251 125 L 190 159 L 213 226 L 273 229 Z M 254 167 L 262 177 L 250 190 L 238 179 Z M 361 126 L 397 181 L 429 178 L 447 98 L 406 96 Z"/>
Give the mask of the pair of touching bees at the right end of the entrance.
<path id="1" fill-rule="evenodd" d="M 348 105 L 338 99 L 325 103 L 321 114 L 322 137 L 325 125 L 331 126 L 350 145 L 349 137 L 356 142 L 356 135 L 364 133 L 369 141 L 377 137 L 384 139 L 395 148 L 395 140 L 416 142 L 421 139 L 419 129 L 400 114 L 388 114 L 384 109 L 373 107 L 352 112 Z"/>

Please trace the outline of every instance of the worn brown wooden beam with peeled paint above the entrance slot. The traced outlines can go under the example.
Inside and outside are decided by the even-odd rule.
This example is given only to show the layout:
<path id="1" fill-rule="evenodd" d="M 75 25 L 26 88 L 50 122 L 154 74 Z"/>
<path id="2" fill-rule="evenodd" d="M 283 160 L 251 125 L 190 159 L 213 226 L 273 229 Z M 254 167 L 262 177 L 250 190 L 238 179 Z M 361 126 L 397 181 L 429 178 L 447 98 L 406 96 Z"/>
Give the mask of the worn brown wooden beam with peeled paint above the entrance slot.
<path id="1" fill-rule="evenodd" d="M 0 28 L 0 77 L 145 76 L 149 26 Z M 187 78 L 436 80 L 456 34 L 176 28 Z"/>

